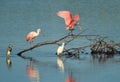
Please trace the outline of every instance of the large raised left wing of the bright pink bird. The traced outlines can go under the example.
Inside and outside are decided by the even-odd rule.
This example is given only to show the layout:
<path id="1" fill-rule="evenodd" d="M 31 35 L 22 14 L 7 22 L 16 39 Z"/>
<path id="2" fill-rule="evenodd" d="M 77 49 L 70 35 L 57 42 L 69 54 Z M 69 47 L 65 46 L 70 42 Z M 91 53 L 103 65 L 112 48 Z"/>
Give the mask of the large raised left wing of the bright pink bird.
<path id="1" fill-rule="evenodd" d="M 57 15 L 64 18 L 65 24 L 69 25 L 72 20 L 72 14 L 70 11 L 59 11 L 57 12 Z"/>

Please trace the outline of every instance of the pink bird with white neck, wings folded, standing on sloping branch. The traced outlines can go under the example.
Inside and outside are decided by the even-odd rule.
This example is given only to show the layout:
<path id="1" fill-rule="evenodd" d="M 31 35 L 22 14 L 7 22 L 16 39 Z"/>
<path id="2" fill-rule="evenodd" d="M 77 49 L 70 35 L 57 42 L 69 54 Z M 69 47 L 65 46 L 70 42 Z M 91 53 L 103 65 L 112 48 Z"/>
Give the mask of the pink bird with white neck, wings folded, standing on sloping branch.
<path id="1" fill-rule="evenodd" d="M 32 32 L 28 33 L 28 35 L 26 36 L 26 41 L 27 42 L 30 41 L 30 44 L 33 43 L 33 41 L 34 41 L 33 39 L 35 37 L 37 37 L 41 31 L 42 31 L 41 29 L 37 29 L 37 32 L 32 31 Z"/>

